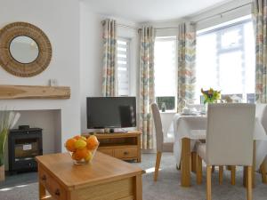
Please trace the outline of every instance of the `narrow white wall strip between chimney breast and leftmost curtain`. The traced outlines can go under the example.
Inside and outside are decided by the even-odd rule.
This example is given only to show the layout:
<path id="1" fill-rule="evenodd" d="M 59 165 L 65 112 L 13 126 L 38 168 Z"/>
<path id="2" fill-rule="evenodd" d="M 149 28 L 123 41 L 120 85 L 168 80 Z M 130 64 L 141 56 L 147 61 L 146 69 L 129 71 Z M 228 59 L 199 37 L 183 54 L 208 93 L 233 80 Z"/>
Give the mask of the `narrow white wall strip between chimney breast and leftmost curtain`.
<path id="1" fill-rule="evenodd" d="M 86 97 L 101 96 L 101 16 L 80 3 L 81 128 L 86 130 Z"/>

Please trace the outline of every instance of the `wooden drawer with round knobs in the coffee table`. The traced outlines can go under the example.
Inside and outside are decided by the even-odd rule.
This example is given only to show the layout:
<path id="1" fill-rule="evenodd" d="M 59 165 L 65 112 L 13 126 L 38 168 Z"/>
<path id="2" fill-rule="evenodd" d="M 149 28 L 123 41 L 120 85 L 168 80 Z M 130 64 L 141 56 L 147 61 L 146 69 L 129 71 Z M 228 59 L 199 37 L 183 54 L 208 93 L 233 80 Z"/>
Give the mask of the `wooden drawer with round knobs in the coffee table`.
<path id="1" fill-rule="evenodd" d="M 64 188 L 62 188 L 61 185 L 42 168 L 39 169 L 39 180 L 53 198 L 57 200 L 67 199 L 67 194 Z"/>

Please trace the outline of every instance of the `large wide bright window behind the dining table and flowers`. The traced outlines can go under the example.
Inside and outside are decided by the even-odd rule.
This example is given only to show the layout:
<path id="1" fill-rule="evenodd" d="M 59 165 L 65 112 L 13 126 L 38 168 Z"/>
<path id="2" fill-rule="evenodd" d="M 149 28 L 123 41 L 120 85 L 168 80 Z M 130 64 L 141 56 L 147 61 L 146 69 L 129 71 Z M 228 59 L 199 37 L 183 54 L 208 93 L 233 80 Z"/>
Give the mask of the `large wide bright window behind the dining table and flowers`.
<path id="1" fill-rule="evenodd" d="M 255 101 L 255 38 L 249 19 L 209 28 L 197 36 L 197 100 L 200 89 Z"/>

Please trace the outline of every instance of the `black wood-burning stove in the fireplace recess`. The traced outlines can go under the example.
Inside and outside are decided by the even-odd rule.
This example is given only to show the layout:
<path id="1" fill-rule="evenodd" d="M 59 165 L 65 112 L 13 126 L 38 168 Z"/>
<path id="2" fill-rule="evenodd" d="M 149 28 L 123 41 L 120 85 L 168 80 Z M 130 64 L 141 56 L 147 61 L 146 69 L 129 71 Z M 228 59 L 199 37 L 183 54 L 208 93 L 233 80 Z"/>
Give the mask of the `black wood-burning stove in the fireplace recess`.
<path id="1" fill-rule="evenodd" d="M 9 172 L 36 171 L 35 157 L 43 155 L 42 129 L 12 129 L 8 137 Z"/>

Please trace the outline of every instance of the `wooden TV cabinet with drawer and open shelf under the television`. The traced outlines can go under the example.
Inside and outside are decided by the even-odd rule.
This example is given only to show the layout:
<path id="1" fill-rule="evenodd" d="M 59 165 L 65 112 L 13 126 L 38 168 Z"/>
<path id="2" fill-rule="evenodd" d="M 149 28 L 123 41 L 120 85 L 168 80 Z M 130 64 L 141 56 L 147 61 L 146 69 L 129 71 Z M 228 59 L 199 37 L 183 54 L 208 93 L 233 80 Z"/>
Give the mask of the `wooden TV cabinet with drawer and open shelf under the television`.
<path id="1" fill-rule="evenodd" d="M 124 133 L 94 133 L 100 141 L 98 150 L 109 156 L 122 160 L 136 160 L 141 162 L 141 134 L 142 132 Z M 88 137 L 90 133 L 84 133 Z"/>

